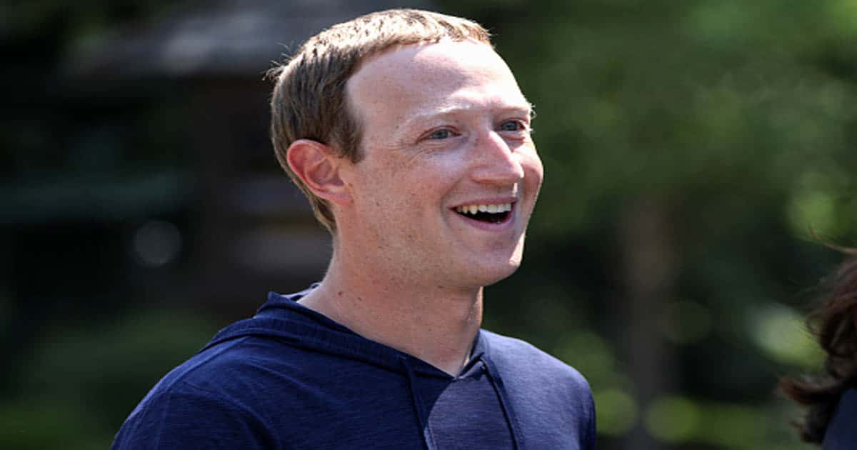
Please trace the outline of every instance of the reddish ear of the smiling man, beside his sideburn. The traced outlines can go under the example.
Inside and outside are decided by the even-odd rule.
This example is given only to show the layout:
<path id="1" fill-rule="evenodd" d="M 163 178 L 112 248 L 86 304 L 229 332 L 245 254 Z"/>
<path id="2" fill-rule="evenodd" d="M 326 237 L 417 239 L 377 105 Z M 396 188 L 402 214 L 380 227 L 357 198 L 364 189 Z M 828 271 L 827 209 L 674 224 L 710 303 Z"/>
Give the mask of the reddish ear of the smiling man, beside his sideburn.
<path id="1" fill-rule="evenodd" d="M 339 205 L 351 201 L 351 195 L 339 177 L 339 167 L 345 158 L 319 141 L 298 139 L 285 153 L 291 171 L 307 185 L 313 194 Z"/>

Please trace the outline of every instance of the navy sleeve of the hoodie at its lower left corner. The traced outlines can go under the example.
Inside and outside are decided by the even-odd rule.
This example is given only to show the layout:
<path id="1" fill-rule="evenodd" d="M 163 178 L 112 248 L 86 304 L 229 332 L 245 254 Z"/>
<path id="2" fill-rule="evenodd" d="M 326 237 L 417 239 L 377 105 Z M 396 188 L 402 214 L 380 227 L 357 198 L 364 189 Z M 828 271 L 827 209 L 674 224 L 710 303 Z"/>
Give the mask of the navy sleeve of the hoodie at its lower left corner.
<path id="1" fill-rule="evenodd" d="M 195 387 L 143 399 L 111 450 L 273 448 L 273 430 L 236 401 Z"/>

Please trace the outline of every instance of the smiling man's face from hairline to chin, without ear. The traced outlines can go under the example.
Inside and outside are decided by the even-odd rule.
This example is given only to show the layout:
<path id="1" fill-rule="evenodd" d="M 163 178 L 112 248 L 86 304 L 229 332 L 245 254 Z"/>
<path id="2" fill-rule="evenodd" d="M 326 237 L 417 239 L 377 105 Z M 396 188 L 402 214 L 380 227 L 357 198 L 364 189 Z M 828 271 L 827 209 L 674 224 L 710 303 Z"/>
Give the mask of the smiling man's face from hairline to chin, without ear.
<path id="1" fill-rule="evenodd" d="M 542 162 L 530 104 L 500 56 L 473 41 L 408 45 L 364 63 L 347 93 L 363 159 L 343 172 L 354 202 L 342 238 L 360 241 L 379 276 L 410 284 L 511 275 Z"/>

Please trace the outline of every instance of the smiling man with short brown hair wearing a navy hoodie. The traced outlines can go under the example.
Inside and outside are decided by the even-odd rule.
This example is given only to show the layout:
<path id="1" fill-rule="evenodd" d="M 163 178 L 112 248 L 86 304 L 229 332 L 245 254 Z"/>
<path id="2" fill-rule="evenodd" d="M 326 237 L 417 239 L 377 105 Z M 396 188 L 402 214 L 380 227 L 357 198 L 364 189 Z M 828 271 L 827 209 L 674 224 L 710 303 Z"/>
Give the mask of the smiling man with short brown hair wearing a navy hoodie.
<path id="1" fill-rule="evenodd" d="M 114 448 L 594 448 L 584 378 L 480 330 L 542 183 L 488 33 L 384 11 L 275 75 L 273 144 L 333 234 L 327 273 L 166 375 Z"/>

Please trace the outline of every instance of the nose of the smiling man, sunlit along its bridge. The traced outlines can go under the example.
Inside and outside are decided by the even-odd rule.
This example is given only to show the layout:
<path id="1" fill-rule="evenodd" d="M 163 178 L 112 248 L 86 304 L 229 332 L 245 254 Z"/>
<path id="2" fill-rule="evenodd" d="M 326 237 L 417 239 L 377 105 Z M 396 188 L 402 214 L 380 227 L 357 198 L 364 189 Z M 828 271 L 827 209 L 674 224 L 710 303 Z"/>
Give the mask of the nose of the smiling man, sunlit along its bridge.
<path id="1" fill-rule="evenodd" d="M 473 169 L 470 177 L 476 183 L 508 186 L 524 179 L 521 155 L 496 131 L 485 131 L 476 136 Z"/>

